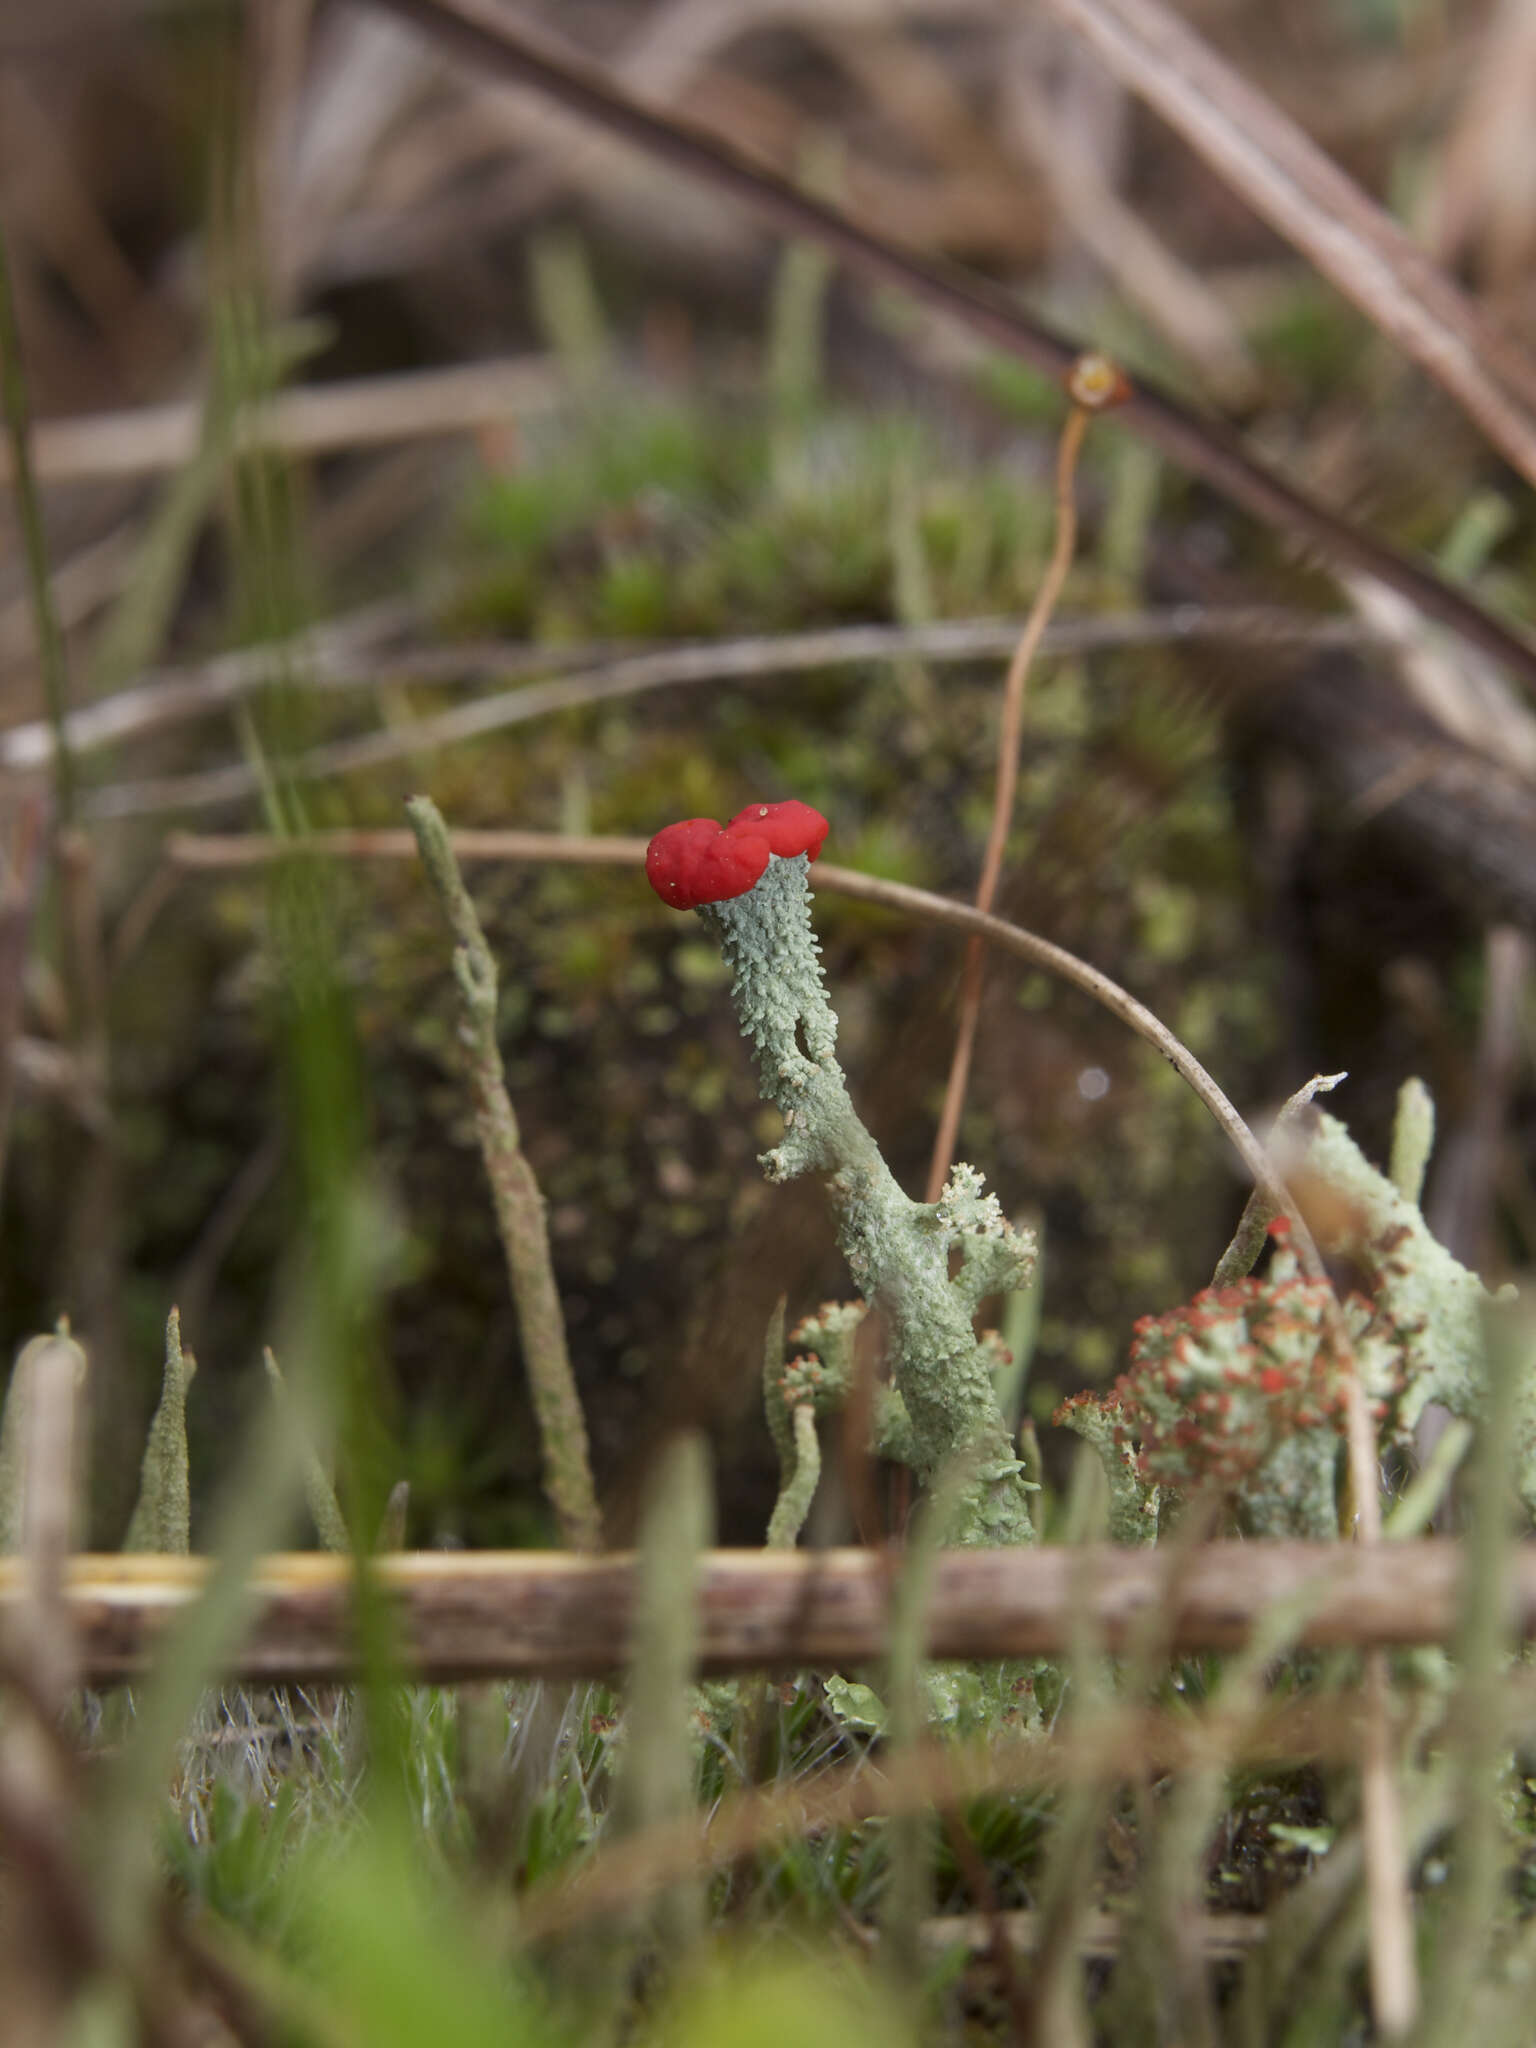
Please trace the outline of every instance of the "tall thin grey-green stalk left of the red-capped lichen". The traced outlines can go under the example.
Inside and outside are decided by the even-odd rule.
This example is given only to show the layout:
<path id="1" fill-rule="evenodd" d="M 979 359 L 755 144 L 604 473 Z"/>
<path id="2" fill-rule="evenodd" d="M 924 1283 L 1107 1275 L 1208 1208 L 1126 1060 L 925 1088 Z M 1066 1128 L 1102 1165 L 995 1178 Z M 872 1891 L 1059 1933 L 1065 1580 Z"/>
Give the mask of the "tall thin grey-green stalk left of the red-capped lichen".
<path id="1" fill-rule="evenodd" d="M 596 1550 L 602 1542 L 598 1495 L 592 1485 L 586 1417 L 575 1391 L 565 1317 L 549 1251 L 545 1198 L 522 1151 L 518 1116 L 506 1090 L 502 1049 L 496 1040 L 498 975 L 475 905 L 465 889 L 453 840 L 430 797 L 406 805 L 449 928 L 455 936 L 453 975 L 469 1026 L 469 1085 L 475 1098 L 475 1137 L 492 1184 L 502 1251 L 512 1278 L 522 1358 L 528 1368 L 535 1415 L 545 1456 L 545 1493 L 565 1542 Z"/>

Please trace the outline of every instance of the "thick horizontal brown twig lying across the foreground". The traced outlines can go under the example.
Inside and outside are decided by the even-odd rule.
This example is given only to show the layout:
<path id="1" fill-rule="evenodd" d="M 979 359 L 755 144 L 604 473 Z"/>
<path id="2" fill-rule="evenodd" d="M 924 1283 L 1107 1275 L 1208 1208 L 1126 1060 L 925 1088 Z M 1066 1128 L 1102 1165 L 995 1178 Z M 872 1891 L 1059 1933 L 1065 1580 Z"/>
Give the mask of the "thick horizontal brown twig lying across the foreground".
<path id="1" fill-rule="evenodd" d="M 139 1677 L 164 1632 L 199 1597 L 205 1559 L 74 1556 L 63 1599 L 80 1677 Z M 354 1675 L 354 1561 L 305 1550 L 262 1559 L 252 1622 L 223 1659 L 246 1683 L 338 1683 Z M 623 1667 L 633 1559 L 567 1550 L 403 1552 L 369 1565 L 397 1618 L 401 1671 L 430 1683 L 473 1677 L 588 1677 Z M 27 1569 L 0 1561 L 0 1618 L 25 1599 Z M 1309 1593 L 1294 1640 L 1323 1649 L 1446 1642 L 1464 1593 L 1464 1552 L 1446 1538 L 1401 1544 L 1212 1542 L 1194 1550 L 1174 1597 L 1153 1550 L 946 1550 L 934 1565 L 930 1657 L 1055 1657 L 1083 1616 L 1110 1655 L 1167 1604 L 1167 1651 L 1231 1651 L 1280 1599 Z M 707 1671 L 846 1671 L 889 1647 L 887 1571 L 870 1550 L 713 1550 L 698 1569 Z M 1511 1552 L 1509 1628 L 1536 1636 L 1536 1546 Z M 1526 1700 L 1526 1708 L 1530 1700 Z M 1331 1712 L 1331 1708 L 1329 1708 Z M 1350 1755 L 1358 1755 L 1358 1729 Z"/>

